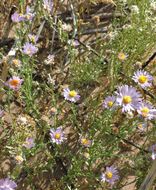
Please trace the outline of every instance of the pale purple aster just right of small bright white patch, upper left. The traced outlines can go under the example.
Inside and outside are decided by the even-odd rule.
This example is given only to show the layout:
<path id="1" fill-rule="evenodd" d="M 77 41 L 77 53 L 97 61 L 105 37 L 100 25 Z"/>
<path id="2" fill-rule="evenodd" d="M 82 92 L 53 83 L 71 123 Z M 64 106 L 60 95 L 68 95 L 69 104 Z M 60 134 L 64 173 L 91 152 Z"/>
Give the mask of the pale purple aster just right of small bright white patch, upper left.
<path id="1" fill-rule="evenodd" d="M 26 42 L 23 46 L 23 53 L 32 56 L 38 51 L 38 48 L 32 43 Z"/>

